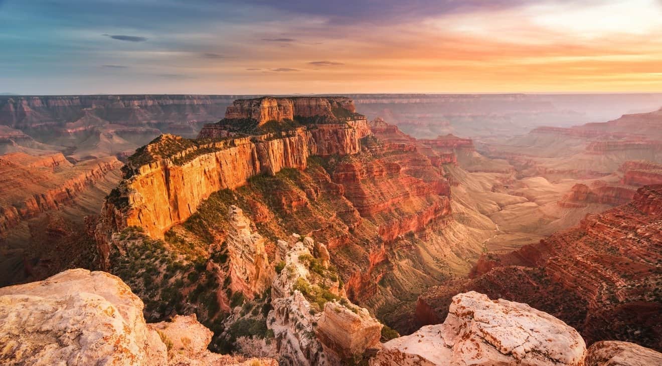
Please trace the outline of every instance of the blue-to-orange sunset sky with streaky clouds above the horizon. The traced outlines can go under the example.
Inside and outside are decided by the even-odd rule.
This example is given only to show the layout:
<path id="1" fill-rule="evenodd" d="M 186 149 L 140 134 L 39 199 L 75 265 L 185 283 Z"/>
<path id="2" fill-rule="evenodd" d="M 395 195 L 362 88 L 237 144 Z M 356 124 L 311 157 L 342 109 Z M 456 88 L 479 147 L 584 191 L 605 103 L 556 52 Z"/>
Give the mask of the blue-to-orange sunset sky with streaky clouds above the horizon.
<path id="1" fill-rule="evenodd" d="M 0 93 L 662 91 L 662 0 L 0 0 Z"/>

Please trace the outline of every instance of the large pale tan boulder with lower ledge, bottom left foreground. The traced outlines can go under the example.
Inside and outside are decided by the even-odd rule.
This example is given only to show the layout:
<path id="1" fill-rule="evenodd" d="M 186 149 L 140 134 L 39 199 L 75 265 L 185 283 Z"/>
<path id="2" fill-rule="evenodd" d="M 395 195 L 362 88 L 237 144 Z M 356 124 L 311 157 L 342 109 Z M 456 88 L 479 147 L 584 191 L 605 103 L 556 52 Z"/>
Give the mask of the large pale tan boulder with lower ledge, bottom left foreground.
<path id="1" fill-rule="evenodd" d="M 193 316 L 145 323 L 143 303 L 118 277 L 71 269 L 0 289 L 3 365 L 240 365 L 207 351 L 211 332 Z M 275 365 L 273 360 L 245 364 Z"/>

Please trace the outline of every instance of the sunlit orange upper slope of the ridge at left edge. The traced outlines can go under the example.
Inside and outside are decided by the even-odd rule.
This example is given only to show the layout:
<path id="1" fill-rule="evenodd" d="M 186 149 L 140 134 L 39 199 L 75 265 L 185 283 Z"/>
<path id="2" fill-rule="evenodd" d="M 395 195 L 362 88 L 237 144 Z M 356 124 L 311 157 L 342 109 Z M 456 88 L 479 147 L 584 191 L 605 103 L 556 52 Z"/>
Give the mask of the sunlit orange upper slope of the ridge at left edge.
<path id="1" fill-rule="evenodd" d="M 121 165 L 113 157 L 74 165 L 60 153 L 0 156 L 0 236 L 22 220 L 70 204 L 81 191 Z"/>

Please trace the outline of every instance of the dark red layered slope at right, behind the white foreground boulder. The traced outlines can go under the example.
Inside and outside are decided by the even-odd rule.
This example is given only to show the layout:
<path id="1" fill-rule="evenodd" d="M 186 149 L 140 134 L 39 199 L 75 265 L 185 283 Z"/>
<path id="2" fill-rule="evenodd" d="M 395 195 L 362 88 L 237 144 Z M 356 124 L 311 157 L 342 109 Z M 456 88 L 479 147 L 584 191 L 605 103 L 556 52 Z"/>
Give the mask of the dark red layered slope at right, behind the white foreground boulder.
<path id="1" fill-rule="evenodd" d="M 661 218 L 662 185 L 641 187 L 627 205 L 516 252 L 489 255 L 474 279 L 430 289 L 419 297 L 417 318 L 443 319 L 453 294 L 473 290 L 557 316 L 589 344 L 624 340 L 660 350 Z"/>

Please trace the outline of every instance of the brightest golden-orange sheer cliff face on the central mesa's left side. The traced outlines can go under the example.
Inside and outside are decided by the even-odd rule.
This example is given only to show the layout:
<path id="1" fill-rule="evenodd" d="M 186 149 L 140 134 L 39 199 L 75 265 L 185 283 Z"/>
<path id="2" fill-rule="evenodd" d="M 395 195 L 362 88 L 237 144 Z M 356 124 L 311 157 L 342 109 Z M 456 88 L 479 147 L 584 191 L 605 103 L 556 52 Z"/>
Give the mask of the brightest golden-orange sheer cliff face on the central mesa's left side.
<path id="1" fill-rule="evenodd" d="M 167 146 L 178 139 L 164 135 L 158 143 Z M 135 175 L 120 183 L 118 195 L 126 206 L 107 201 L 100 230 L 118 232 L 140 226 L 150 236 L 163 238 L 167 229 L 189 218 L 211 193 L 244 185 L 260 173 L 303 169 L 307 158 L 308 141 L 300 134 L 257 143 L 234 138 L 161 158 L 138 167 Z M 178 160 L 185 161 L 178 164 Z"/>

